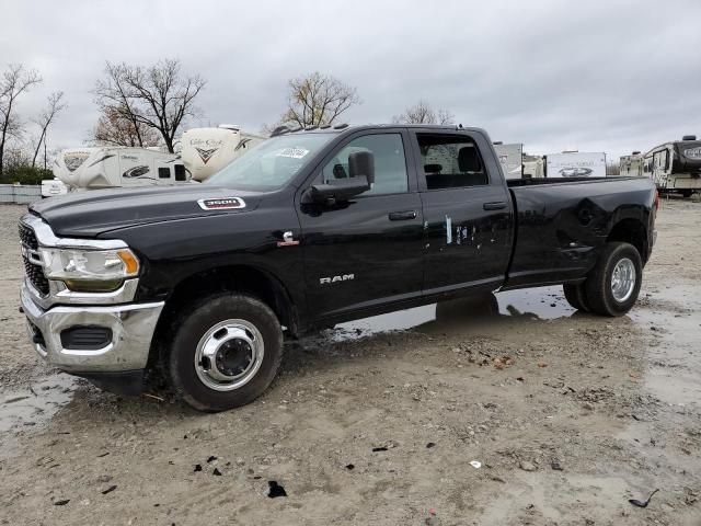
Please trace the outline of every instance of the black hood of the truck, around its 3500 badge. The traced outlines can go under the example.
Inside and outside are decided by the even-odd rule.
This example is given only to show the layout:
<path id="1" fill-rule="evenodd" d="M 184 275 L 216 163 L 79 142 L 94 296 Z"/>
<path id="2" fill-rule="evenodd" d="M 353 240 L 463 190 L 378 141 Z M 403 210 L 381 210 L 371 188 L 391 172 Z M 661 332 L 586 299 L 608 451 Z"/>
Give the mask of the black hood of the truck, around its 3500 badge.
<path id="1" fill-rule="evenodd" d="M 255 209 L 263 195 L 204 184 L 90 190 L 36 202 L 30 211 L 47 221 L 56 236 L 92 238 L 126 226 L 245 213 Z M 228 202 L 217 203 L 231 198 L 244 206 L 222 208 Z M 203 199 L 212 207 L 204 209 Z"/>

